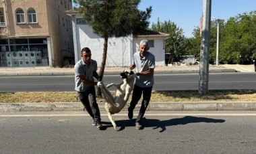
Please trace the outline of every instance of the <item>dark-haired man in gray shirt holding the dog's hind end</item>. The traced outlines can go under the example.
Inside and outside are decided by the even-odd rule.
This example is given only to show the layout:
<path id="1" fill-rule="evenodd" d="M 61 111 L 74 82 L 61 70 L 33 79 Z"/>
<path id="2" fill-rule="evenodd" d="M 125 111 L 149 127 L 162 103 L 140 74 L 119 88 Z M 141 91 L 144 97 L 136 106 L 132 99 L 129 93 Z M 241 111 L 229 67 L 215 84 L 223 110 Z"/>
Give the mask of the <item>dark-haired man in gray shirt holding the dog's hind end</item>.
<path id="1" fill-rule="evenodd" d="M 81 51 L 82 59 L 75 64 L 75 91 L 78 98 L 84 105 L 92 119 L 92 125 L 98 128 L 102 127 L 100 122 L 100 110 L 96 102 L 96 92 L 94 86 L 102 86 L 102 82 L 94 82 L 94 78 L 98 79 L 97 62 L 91 59 L 91 50 L 83 48 Z"/>

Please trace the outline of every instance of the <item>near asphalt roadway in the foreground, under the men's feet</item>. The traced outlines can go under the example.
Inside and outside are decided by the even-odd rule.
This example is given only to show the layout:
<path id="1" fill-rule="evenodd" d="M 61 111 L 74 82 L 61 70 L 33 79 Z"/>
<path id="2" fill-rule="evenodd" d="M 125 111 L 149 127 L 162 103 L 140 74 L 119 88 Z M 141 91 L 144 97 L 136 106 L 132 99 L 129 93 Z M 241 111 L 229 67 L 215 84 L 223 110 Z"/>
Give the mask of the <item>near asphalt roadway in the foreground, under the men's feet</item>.
<path id="1" fill-rule="evenodd" d="M 137 114 L 137 113 L 135 113 Z M 3 112 L 0 153 L 255 153 L 255 112 L 146 112 L 136 130 L 127 112 L 115 131 L 84 112 Z"/>

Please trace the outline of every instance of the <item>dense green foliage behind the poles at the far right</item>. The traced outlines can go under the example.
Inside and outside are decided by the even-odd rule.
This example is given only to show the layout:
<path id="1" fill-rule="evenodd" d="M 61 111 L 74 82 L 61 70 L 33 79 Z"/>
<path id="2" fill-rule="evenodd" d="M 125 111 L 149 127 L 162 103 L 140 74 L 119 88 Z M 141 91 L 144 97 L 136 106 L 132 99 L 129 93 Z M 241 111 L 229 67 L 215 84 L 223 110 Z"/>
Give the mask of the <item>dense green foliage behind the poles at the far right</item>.
<path id="1" fill-rule="evenodd" d="M 210 62 L 216 60 L 217 21 L 211 22 Z M 197 55 L 201 38 L 199 27 L 194 37 L 187 38 L 187 52 Z M 256 11 L 230 17 L 226 23 L 220 19 L 219 60 L 222 64 L 252 64 L 256 59 Z M 197 52 L 198 51 L 198 52 Z"/>

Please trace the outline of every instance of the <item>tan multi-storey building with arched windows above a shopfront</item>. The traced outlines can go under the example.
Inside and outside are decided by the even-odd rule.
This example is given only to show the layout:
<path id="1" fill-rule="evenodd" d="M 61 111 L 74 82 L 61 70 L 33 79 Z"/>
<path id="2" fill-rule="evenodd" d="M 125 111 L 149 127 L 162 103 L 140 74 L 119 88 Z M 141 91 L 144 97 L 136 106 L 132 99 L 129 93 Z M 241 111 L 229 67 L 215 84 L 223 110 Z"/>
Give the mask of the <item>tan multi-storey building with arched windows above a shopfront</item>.
<path id="1" fill-rule="evenodd" d="M 74 64 L 71 0 L 1 0 L 0 66 Z"/>

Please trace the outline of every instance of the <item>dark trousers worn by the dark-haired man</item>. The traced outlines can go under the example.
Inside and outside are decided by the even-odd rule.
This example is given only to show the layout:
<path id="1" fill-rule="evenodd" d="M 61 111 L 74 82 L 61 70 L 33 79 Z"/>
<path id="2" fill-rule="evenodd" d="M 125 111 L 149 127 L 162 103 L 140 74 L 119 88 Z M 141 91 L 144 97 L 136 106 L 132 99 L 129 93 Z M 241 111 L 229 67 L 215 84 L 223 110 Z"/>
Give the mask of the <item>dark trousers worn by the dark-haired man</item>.
<path id="1" fill-rule="evenodd" d="M 94 86 L 91 86 L 85 92 L 77 92 L 79 100 L 84 105 L 84 110 L 86 110 L 90 117 L 94 119 L 94 121 L 100 121 L 100 109 L 98 108 L 98 104 L 96 102 L 96 92 Z"/>

